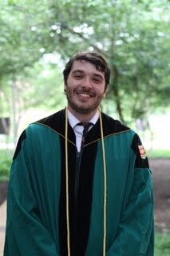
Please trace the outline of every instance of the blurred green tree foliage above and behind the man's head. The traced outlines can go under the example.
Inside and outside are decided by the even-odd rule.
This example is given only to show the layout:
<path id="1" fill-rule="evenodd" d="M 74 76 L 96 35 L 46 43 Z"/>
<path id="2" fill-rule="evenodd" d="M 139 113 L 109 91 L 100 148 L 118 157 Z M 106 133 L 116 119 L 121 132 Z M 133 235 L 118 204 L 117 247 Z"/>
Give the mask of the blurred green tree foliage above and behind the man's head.
<path id="1" fill-rule="evenodd" d="M 0 2 L 2 112 L 10 110 L 7 88 L 13 82 L 19 92 L 19 110 L 29 103 L 54 106 L 53 97 L 56 105 L 61 102 L 54 89 L 63 86 L 61 73 L 56 72 L 49 83 L 39 75 L 46 69 L 45 58 L 50 56 L 54 74 L 78 50 L 96 50 L 109 62 L 112 77 L 105 104 L 113 106 L 121 121 L 146 118 L 160 106 L 167 107 L 169 9 L 168 0 Z M 44 65 L 38 67 L 40 60 Z"/>

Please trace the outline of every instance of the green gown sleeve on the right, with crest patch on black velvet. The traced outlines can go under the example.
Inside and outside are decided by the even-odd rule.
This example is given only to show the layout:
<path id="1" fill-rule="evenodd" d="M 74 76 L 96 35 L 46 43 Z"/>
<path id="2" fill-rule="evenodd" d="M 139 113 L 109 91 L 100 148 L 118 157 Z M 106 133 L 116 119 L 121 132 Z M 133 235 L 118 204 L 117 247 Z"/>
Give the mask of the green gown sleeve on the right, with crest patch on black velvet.
<path id="1" fill-rule="evenodd" d="M 137 134 L 131 146 L 128 173 L 132 186 L 126 190 L 121 222 L 107 256 L 152 256 L 154 245 L 152 175 Z"/>

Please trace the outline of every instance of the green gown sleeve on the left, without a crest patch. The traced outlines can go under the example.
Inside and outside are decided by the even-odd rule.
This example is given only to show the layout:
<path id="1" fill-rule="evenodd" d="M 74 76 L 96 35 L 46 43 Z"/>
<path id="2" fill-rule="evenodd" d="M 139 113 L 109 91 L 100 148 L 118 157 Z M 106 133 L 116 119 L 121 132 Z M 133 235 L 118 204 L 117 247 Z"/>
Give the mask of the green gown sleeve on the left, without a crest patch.
<path id="1" fill-rule="evenodd" d="M 28 170 L 29 150 L 24 131 L 10 170 L 4 256 L 58 256 L 38 212 Z"/>

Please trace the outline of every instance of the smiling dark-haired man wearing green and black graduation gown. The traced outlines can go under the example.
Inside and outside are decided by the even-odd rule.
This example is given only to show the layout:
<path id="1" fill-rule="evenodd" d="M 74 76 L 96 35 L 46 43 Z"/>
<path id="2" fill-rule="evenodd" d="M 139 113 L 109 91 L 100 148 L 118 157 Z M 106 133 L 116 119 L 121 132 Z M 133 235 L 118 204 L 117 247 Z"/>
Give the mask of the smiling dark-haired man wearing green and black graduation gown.
<path id="1" fill-rule="evenodd" d="M 68 106 L 31 124 L 14 154 L 4 255 L 151 256 L 148 158 L 133 130 L 99 110 L 109 67 L 80 52 L 63 74 Z"/>

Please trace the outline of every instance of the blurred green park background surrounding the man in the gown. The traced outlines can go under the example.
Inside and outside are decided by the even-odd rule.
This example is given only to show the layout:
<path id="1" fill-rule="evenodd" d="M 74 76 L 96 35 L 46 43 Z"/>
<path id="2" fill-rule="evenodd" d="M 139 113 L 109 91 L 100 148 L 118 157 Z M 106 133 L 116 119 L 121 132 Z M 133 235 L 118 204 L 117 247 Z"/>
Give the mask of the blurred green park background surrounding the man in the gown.
<path id="1" fill-rule="evenodd" d="M 150 158 L 155 255 L 170 255 L 168 0 L 0 2 L 0 255 L 14 148 L 30 122 L 65 107 L 62 70 L 79 50 L 111 68 L 102 110 L 135 129 Z"/>

